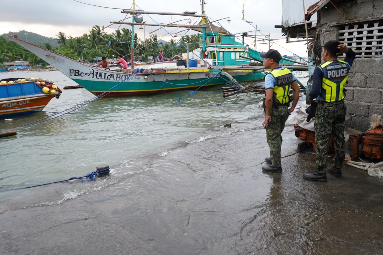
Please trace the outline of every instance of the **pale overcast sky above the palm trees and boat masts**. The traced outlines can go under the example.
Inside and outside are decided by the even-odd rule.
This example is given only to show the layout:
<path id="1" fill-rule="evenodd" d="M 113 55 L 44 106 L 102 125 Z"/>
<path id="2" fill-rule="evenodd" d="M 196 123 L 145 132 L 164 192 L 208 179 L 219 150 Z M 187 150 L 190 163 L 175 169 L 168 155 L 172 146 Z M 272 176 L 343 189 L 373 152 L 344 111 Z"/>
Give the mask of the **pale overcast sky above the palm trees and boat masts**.
<path id="1" fill-rule="evenodd" d="M 131 0 L 79 0 L 83 3 L 92 5 L 100 5 L 110 8 L 130 9 L 133 1 Z M 206 1 L 206 0 L 205 0 Z M 230 23 L 227 19 L 219 21 L 231 33 L 239 33 L 244 31 L 255 30 L 251 25 L 242 21 L 242 5 L 245 4 L 245 18 L 252 21 L 252 25 L 264 34 L 271 34 L 272 39 L 282 38 L 280 28 L 274 28 L 275 25 L 282 23 L 282 0 L 207 0 L 205 6 L 206 15 L 211 20 L 218 20 L 230 16 Z M 57 38 L 59 31 L 64 32 L 67 36 L 82 36 L 89 33 L 94 25 L 108 26 L 110 21 L 119 21 L 125 18 L 126 14 L 121 10 L 108 9 L 86 5 L 74 0 L 18 0 L 18 1 L 2 1 L 0 10 L 0 34 L 8 32 L 18 32 L 20 30 L 38 33 L 43 36 Z M 136 8 L 145 11 L 161 11 L 176 12 L 196 11 L 201 13 L 200 0 L 136 0 Z M 130 16 L 130 15 L 128 15 Z M 163 15 L 143 15 L 144 21 L 147 23 L 172 23 L 177 20 L 188 18 L 185 16 L 163 16 Z M 302 14 L 303 16 L 303 14 Z M 128 19 L 129 21 L 131 19 Z M 192 24 L 196 22 L 193 19 Z M 197 21 L 198 22 L 198 21 Z M 187 24 L 187 21 L 179 23 Z M 113 33 L 119 27 L 113 24 L 110 29 L 105 29 L 107 33 Z M 120 28 L 129 28 L 129 25 L 121 25 Z M 145 26 L 145 36 L 148 38 L 149 32 L 157 29 L 154 26 Z M 177 33 L 182 28 L 165 28 L 170 33 Z M 138 36 L 144 38 L 144 29 L 135 27 Z M 171 37 L 164 30 L 154 32 L 160 39 L 168 41 Z M 180 35 L 185 33 L 181 32 Z M 195 31 L 189 34 L 196 33 Z M 250 33 L 253 34 L 254 32 Z M 260 32 L 257 32 L 260 33 Z M 180 36 L 176 37 L 179 39 Z M 277 40 L 276 42 L 286 48 L 273 44 L 272 48 L 280 51 L 282 55 L 292 55 L 291 52 L 307 57 L 306 46 L 304 43 L 288 43 L 285 40 Z M 246 40 L 247 44 L 252 44 L 252 39 Z M 261 42 L 257 42 L 261 43 Z M 268 44 L 259 44 L 257 50 L 266 51 Z M 290 52 L 291 51 L 291 52 Z"/>

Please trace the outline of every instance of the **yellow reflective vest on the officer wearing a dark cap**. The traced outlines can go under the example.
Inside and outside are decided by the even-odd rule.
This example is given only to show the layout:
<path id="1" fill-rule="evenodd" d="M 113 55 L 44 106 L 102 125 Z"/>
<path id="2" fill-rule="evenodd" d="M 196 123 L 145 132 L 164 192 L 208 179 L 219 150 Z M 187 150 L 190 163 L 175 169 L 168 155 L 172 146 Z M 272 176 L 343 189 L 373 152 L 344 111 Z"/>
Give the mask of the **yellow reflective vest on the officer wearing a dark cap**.
<path id="1" fill-rule="evenodd" d="M 293 82 L 293 74 L 287 68 L 282 70 L 272 70 L 268 74 L 275 78 L 275 86 L 273 89 L 273 100 L 281 105 L 289 103 L 288 95 L 290 93 L 291 83 Z"/>

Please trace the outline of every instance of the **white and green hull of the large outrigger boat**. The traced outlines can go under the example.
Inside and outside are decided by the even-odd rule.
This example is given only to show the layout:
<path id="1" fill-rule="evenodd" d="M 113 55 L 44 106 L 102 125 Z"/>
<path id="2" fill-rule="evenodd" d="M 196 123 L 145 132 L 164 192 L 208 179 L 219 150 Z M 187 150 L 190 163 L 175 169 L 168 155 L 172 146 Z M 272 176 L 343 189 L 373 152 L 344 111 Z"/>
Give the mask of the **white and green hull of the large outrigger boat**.
<path id="1" fill-rule="evenodd" d="M 138 74 L 131 74 L 128 70 L 113 72 L 97 69 L 22 41 L 14 36 L 8 38 L 53 65 L 94 95 L 146 95 L 229 82 L 227 77 L 217 75 L 216 72 L 207 68 L 190 68 L 189 70 L 140 69 Z M 231 74 L 238 82 L 251 82 L 264 78 L 264 73 L 254 70 L 226 72 Z"/>

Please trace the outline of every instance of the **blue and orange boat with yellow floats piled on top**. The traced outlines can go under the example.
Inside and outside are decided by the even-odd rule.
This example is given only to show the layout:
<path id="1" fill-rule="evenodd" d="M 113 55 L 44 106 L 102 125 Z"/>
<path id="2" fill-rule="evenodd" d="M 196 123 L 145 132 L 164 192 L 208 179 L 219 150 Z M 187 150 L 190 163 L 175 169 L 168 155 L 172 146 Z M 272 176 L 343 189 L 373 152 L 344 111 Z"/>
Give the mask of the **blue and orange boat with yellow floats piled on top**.
<path id="1" fill-rule="evenodd" d="M 53 82 L 36 78 L 7 78 L 0 82 L 0 119 L 36 113 L 62 91 Z"/>

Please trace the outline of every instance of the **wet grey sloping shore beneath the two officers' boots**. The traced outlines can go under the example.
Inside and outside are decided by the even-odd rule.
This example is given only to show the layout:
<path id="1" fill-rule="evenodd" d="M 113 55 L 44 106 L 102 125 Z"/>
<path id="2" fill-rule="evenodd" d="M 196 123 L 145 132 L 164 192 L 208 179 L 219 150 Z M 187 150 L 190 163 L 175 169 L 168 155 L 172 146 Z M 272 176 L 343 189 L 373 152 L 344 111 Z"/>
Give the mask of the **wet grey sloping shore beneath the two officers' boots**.
<path id="1" fill-rule="evenodd" d="M 348 166 L 327 183 L 304 180 L 315 155 L 296 153 L 286 129 L 282 174 L 261 172 L 268 149 L 255 129 L 180 147 L 154 171 L 62 204 L 0 206 L 0 253 L 383 253 L 382 180 Z M 204 157 L 213 140 L 227 152 L 214 160 Z"/>

